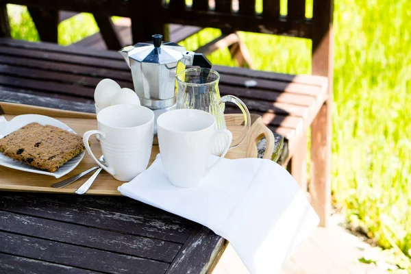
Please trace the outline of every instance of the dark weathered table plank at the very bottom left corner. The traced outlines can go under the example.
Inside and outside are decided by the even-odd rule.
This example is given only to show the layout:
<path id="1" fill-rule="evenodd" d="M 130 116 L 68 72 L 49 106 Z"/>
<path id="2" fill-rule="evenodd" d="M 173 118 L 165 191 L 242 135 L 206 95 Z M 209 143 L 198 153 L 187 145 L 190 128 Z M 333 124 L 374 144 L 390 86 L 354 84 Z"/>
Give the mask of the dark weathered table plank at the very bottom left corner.
<path id="1" fill-rule="evenodd" d="M 0 240 L 1 241 L 1 240 Z M 53 264 L 42 260 L 33 260 L 13 256 L 5 253 L 0 253 L 0 273 L 12 274 L 91 274 L 95 271 L 86 269 L 78 269 L 73 266 L 65 266 L 61 264 Z"/>

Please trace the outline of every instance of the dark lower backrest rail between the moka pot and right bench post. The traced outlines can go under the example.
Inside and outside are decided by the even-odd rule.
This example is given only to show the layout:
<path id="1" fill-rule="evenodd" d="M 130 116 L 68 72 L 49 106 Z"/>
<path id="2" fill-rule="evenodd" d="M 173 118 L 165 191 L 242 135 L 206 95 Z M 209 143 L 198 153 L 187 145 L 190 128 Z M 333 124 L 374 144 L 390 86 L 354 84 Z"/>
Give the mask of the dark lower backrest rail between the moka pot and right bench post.
<path id="1" fill-rule="evenodd" d="M 147 0 L 152 1 L 152 0 Z M 163 0 L 165 1 L 165 0 Z M 262 12 L 256 9 L 257 0 L 192 0 L 188 7 L 185 0 L 169 0 L 163 8 L 162 19 L 166 23 L 229 29 L 312 38 L 312 20 L 306 18 L 306 0 L 288 0 L 288 16 L 280 15 L 281 0 L 262 0 Z M 333 0 L 317 0 L 323 5 Z"/>

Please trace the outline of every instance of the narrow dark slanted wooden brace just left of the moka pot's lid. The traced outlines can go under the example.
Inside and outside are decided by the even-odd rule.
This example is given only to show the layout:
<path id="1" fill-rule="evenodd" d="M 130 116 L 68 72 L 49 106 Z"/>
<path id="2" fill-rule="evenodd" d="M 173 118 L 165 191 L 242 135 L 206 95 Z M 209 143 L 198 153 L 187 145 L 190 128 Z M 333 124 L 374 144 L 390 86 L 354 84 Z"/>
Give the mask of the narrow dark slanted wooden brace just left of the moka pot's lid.
<path id="1" fill-rule="evenodd" d="M 99 26 L 101 36 L 108 49 L 114 49 L 118 51 L 123 47 L 119 34 L 116 32 L 116 27 L 111 19 L 111 16 L 92 14 L 95 18 L 97 25 Z"/>

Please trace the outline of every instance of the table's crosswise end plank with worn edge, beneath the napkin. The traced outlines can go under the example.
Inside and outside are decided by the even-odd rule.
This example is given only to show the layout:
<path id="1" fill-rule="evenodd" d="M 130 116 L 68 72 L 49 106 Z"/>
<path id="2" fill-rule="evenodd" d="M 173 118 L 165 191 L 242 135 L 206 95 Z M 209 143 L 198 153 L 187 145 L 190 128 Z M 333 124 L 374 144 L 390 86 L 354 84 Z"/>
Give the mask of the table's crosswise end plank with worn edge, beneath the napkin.
<path id="1" fill-rule="evenodd" d="M 210 236 L 210 229 L 197 225 L 166 273 L 211 273 L 227 243 L 216 234 Z"/>

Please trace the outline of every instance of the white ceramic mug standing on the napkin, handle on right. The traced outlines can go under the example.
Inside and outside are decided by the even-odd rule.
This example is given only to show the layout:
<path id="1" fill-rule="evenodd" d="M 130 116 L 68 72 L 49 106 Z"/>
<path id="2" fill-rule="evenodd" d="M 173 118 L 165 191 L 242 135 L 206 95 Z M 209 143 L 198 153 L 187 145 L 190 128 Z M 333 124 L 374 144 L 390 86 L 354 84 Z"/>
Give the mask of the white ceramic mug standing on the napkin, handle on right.
<path id="1" fill-rule="evenodd" d="M 161 159 L 171 184 L 181 188 L 197 186 L 207 171 L 227 153 L 232 133 L 216 131 L 212 114 L 203 110 L 171 110 L 157 119 Z M 225 135 L 225 149 L 212 164 L 215 138 Z"/>

